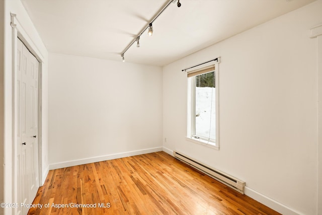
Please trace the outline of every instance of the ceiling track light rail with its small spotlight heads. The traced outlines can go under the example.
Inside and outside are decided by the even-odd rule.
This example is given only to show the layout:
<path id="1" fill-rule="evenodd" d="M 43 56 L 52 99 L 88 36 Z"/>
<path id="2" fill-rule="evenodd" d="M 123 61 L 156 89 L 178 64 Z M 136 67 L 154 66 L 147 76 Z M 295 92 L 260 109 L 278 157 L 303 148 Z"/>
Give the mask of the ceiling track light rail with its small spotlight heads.
<path id="1" fill-rule="evenodd" d="M 125 52 L 133 45 L 133 43 L 135 43 L 135 42 L 137 42 L 136 43 L 136 47 L 140 47 L 140 42 L 139 42 L 139 40 L 140 40 L 140 36 L 143 34 L 143 32 L 146 30 L 146 29 L 148 29 L 148 31 L 147 31 L 147 34 L 149 35 L 149 36 L 151 36 L 152 34 L 153 34 L 153 27 L 152 27 L 152 23 L 154 22 L 154 20 L 156 20 L 156 18 L 158 17 L 158 16 L 160 16 L 160 14 L 162 14 L 163 12 L 164 12 L 164 10 L 166 10 L 166 8 L 168 8 L 168 6 L 171 4 L 171 3 L 176 3 L 177 2 L 177 0 L 169 0 L 169 2 L 167 3 L 167 4 L 165 4 L 162 8 L 160 8 L 160 10 L 158 10 L 158 12 L 154 15 L 154 17 L 153 17 L 153 19 L 151 19 L 151 21 L 150 22 L 148 22 L 149 24 L 147 25 L 147 26 L 145 26 L 142 30 L 141 30 L 141 32 L 135 37 L 135 39 L 133 39 L 129 44 L 128 44 L 128 46 L 126 46 L 126 48 L 121 52 L 121 57 L 122 57 L 122 59 L 123 59 L 123 62 L 125 61 L 124 60 L 124 54 L 125 54 Z M 178 0 L 178 3 L 177 3 L 177 6 L 178 6 L 178 8 L 179 7 L 181 7 L 181 3 L 179 2 L 179 0 Z"/>

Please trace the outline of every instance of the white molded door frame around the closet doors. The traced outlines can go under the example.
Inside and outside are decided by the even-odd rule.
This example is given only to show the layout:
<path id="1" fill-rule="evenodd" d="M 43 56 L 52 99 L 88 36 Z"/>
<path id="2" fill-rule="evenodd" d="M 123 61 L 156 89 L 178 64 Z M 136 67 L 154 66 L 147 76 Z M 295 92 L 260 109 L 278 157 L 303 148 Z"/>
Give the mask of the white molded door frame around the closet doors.
<path id="1" fill-rule="evenodd" d="M 17 162 L 17 133 L 18 133 L 18 89 L 17 89 L 17 46 L 18 38 L 24 43 L 24 45 L 29 49 L 29 51 L 36 57 L 39 61 L 39 71 L 38 71 L 38 172 L 39 172 L 39 186 L 42 186 L 42 68 L 44 66 L 44 57 L 34 44 L 32 39 L 29 37 L 27 32 L 24 30 L 23 26 L 19 22 L 16 14 L 10 13 L 11 15 L 11 27 L 12 27 L 12 164 L 13 164 L 13 202 L 19 201 L 18 196 L 18 162 Z M 18 208 L 13 208 L 13 213 L 16 214 Z"/>

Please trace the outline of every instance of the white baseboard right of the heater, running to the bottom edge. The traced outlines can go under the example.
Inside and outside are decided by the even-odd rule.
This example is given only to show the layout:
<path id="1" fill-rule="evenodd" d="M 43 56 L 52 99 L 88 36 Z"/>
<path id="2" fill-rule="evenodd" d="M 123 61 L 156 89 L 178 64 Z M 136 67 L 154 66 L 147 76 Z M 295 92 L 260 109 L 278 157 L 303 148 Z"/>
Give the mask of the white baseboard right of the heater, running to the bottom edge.
<path id="1" fill-rule="evenodd" d="M 273 210 L 276 210 L 279 213 L 288 215 L 304 215 L 303 213 L 300 213 L 286 206 L 285 204 L 282 204 L 281 202 L 278 202 L 266 195 L 263 195 L 262 193 L 259 193 L 256 190 L 253 190 L 252 188 L 249 188 L 247 186 L 245 186 L 245 195 L 255 199 L 256 201 L 261 202 L 262 204 L 265 204 L 266 206 L 272 208 Z"/>

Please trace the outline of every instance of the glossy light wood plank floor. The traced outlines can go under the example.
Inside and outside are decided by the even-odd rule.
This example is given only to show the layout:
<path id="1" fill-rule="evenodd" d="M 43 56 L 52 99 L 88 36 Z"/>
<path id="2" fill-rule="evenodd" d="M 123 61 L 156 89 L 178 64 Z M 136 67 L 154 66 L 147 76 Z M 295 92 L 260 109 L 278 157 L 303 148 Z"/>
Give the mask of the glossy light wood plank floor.
<path id="1" fill-rule="evenodd" d="M 280 214 L 165 152 L 51 170 L 33 203 L 28 214 Z"/>

